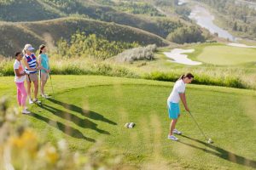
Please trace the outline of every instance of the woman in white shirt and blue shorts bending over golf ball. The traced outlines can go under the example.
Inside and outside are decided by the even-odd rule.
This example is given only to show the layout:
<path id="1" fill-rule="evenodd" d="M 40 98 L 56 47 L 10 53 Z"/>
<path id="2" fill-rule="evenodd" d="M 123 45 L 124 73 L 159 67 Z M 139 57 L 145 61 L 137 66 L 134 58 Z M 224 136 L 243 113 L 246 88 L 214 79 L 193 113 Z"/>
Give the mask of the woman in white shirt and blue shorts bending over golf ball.
<path id="1" fill-rule="evenodd" d="M 168 105 L 168 112 L 169 118 L 172 119 L 170 124 L 170 133 L 168 134 L 168 139 L 176 141 L 177 138 L 173 135 L 175 134 L 182 134 L 179 132 L 175 126 L 177 123 L 177 119 L 180 116 L 180 109 L 179 109 L 179 100 L 181 99 L 186 111 L 189 111 L 189 107 L 187 105 L 187 99 L 185 95 L 185 88 L 186 84 L 192 82 L 194 76 L 191 73 L 187 73 L 186 75 L 181 76 L 177 82 L 175 82 L 174 87 L 172 89 L 172 93 L 167 99 Z"/>

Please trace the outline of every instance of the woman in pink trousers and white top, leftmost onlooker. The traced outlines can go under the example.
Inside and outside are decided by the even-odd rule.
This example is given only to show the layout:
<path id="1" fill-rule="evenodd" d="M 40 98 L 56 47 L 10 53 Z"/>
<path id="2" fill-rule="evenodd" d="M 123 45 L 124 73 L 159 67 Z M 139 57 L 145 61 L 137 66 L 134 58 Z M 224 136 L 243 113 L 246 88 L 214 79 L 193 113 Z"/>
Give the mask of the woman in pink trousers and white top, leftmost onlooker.
<path id="1" fill-rule="evenodd" d="M 21 52 L 17 52 L 15 54 L 15 64 L 14 64 L 14 70 L 15 70 L 15 84 L 17 86 L 17 100 L 18 104 L 21 106 L 21 113 L 22 114 L 29 114 L 30 111 L 27 111 L 26 109 L 26 88 L 24 87 L 24 81 L 25 81 L 25 71 L 23 66 L 21 65 L 20 60 L 22 59 Z"/>

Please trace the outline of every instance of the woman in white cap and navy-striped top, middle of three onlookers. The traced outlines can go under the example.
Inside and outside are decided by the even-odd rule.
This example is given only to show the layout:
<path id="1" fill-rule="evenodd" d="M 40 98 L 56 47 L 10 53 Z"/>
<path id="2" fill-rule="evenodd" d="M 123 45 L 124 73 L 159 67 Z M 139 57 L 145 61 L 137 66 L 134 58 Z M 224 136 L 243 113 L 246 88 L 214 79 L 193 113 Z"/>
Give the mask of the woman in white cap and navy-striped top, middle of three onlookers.
<path id="1" fill-rule="evenodd" d="M 27 84 L 27 94 L 29 97 L 29 104 L 36 103 L 40 104 L 41 102 L 38 100 L 38 61 L 36 59 L 35 54 L 32 53 L 31 44 L 26 44 L 23 49 L 24 54 L 24 64 L 26 65 L 25 72 L 26 72 L 26 84 Z M 31 84 L 34 84 L 34 100 L 32 100 L 31 95 Z"/>

